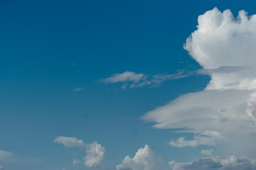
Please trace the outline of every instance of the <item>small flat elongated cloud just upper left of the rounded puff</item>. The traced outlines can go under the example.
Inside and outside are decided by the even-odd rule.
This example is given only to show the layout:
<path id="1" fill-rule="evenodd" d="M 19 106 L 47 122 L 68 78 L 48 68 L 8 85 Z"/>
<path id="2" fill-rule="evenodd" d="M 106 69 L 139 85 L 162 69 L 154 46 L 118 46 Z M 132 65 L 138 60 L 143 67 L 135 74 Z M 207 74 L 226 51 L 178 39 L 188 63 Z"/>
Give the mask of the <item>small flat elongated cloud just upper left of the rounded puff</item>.
<path id="1" fill-rule="evenodd" d="M 63 144 L 65 147 L 85 147 L 85 143 L 82 140 L 78 140 L 76 137 L 57 137 L 53 142 Z"/>

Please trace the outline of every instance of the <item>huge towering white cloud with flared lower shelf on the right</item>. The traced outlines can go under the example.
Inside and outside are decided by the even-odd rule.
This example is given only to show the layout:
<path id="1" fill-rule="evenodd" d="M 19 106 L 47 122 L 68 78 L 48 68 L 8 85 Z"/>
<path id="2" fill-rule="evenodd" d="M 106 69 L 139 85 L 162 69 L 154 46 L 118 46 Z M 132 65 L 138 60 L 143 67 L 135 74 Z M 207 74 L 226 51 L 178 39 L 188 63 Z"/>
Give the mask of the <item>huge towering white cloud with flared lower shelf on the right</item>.
<path id="1" fill-rule="evenodd" d="M 197 30 L 184 48 L 203 67 L 198 74 L 210 75 L 209 84 L 204 91 L 180 96 L 142 119 L 156 122 L 155 128 L 183 128 L 196 134 L 193 140 L 172 140 L 173 146 L 220 142 L 223 152 L 255 157 L 255 44 L 256 15 L 248 17 L 240 11 L 235 18 L 230 10 L 213 8 L 199 16 Z M 207 131 L 220 137 L 205 138 Z"/>

